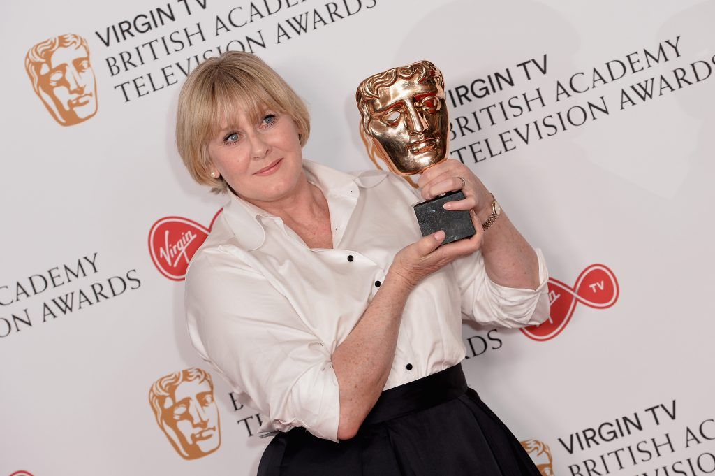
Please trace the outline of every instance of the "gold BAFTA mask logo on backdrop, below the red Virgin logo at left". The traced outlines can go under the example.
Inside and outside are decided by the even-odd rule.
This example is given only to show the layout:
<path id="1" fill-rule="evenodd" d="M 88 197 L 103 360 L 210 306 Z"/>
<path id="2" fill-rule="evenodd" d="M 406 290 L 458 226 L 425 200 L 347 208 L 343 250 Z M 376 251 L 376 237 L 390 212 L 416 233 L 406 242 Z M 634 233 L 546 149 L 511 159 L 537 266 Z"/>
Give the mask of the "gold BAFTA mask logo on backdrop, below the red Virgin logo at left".
<path id="1" fill-rule="evenodd" d="M 158 379 L 149 390 L 157 424 L 174 450 L 195 460 L 221 445 L 219 412 L 211 376 L 202 369 L 184 369 Z"/>

